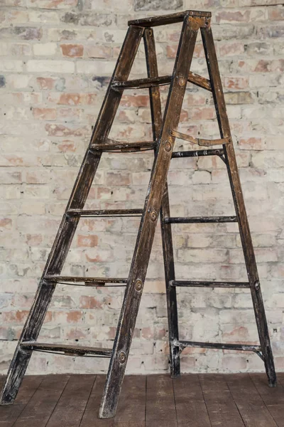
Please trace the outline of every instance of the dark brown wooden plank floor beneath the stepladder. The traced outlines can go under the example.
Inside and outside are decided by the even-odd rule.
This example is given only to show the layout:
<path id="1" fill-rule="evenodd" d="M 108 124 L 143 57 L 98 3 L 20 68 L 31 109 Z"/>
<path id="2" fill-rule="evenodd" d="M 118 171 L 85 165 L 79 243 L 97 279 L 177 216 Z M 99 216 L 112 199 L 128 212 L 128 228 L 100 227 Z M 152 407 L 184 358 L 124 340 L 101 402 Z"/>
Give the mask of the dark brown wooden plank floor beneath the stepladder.
<path id="1" fill-rule="evenodd" d="M 3 382 L 3 378 L 1 379 Z M 284 427 L 284 373 L 126 376 L 115 418 L 99 420 L 104 376 L 26 376 L 0 427 Z"/>

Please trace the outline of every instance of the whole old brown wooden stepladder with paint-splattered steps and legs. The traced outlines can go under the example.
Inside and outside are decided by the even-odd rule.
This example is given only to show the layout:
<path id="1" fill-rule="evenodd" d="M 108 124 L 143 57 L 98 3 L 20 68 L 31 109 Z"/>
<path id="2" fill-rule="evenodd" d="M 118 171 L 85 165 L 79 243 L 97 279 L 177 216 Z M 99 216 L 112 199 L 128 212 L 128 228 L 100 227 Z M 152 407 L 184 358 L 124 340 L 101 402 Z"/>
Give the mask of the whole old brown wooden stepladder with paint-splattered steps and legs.
<path id="1" fill-rule="evenodd" d="M 168 300 L 168 322 L 170 340 L 170 370 L 172 376 L 180 374 L 180 353 L 185 347 L 204 347 L 214 349 L 234 349 L 237 351 L 256 352 L 265 364 L 268 383 L 275 386 L 276 376 L 273 364 L 273 354 L 268 334 L 266 314 L 263 307 L 261 288 L 256 268 L 256 259 L 253 252 L 251 233 L 241 191 L 236 157 L 231 140 L 229 121 L 226 115 L 226 106 L 222 90 L 221 78 L 217 64 L 217 57 L 210 28 L 209 12 L 185 11 L 178 14 L 138 19 L 129 21 L 129 31 L 126 34 L 124 45 L 121 48 L 119 59 L 116 63 L 114 74 L 111 77 L 107 94 L 104 98 L 102 109 L 97 118 L 97 124 L 84 156 L 80 172 L 77 176 L 74 189 L 67 204 L 65 214 L 53 248 L 43 271 L 43 276 L 38 286 L 38 291 L 31 307 L 31 312 L 23 327 L 21 338 L 16 352 L 11 361 L 9 373 L 1 395 L 1 404 L 11 404 L 16 397 L 21 381 L 25 374 L 33 350 L 52 351 L 58 354 L 71 354 L 72 356 L 98 356 L 110 357 L 109 371 L 104 387 L 102 404 L 99 410 L 100 418 L 110 418 L 116 413 L 121 384 L 124 379 L 126 362 L 136 323 L 138 307 L 143 292 L 143 284 L 151 255 L 151 248 L 160 212 L 160 221 L 163 238 L 163 254 L 165 261 L 165 283 Z M 158 76 L 157 58 L 153 26 L 183 22 L 180 43 L 175 59 L 173 75 Z M 193 51 L 197 32 L 201 31 L 204 51 L 209 71 L 209 80 L 190 72 Z M 133 60 L 136 56 L 138 45 L 143 37 L 146 49 L 146 62 L 148 78 L 128 80 Z M 212 92 L 217 111 L 220 139 L 195 139 L 177 131 L 185 95 L 187 81 L 195 83 Z M 170 85 L 165 112 L 162 117 L 160 105 L 160 85 Z M 124 90 L 131 88 L 149 88 L 151 100 L 151 115 L 153 122 L 153 141 L 151 142 L 118 142 L 109 139 L 109 131 L 114 121 L 121 95 Z M 206 149 L 194 151 L 174 152 L 175 138 L 185 139 L 198 144 Z M 210 148 L 222 145 L 222 148 Z M 146 194 L 143 209 L 130 210 L 86 210 L 84 204 L 90 186 L 97 171 L 99 160 L 103 152 L 143 151 L 153 149 L 155 159 L 151 171 L 151 179 Z M 210 216 L 192 218 L 173 218 L 170 216 L 167 175 L 172 158 L 212 156 L 217 155 L 226 164 L 234 199 L 236 216 Z M 136 247 L 133 253 L 129 277 L 124 278 L 84 278 L 60 276 L 65 263 L 72 238 L 81 216 L 132 216 L 141 215 Z M 173 258 L 173 242 L 171 223 L 239 223 L 239 233 L 244 251 L 248 282 L 196 282 L 189 280 L 175 280 Z M 104 286 L 106 283 L 124 283 L 126 290 L 124 302 L 121 307 L 119 324 L 112 349 L 102 347 L 78 347 L 65 344 L 46 344 L 37 342 L 40 328 L 43 325 L 45 314 L 57 283 L 69 285 Z M 204 288 L 250 288 L 253 308 L 258 327 L 259 345 L 249 344 L 217 344 L 210 342 L 186 342 L 178 337 L 178 306 L 176 287 L 204 287 Z"/>

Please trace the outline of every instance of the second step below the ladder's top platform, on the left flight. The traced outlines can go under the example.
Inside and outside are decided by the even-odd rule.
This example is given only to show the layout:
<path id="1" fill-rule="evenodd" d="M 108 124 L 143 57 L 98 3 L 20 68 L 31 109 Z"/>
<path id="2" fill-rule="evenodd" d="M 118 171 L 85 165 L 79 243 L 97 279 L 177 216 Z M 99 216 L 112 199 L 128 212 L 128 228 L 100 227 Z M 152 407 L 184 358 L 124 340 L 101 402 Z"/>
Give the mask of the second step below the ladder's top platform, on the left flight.
<path id="1" fill-rule="evenodd" d="M 121 152 L 137 152 L 146 149 L 154 149 L 155 145 L 155 141 L 126 142 L 106 139 L 104 142 L 92 144 L 90 150 L 93 152 L 112 152 L 117 150 Z"/>

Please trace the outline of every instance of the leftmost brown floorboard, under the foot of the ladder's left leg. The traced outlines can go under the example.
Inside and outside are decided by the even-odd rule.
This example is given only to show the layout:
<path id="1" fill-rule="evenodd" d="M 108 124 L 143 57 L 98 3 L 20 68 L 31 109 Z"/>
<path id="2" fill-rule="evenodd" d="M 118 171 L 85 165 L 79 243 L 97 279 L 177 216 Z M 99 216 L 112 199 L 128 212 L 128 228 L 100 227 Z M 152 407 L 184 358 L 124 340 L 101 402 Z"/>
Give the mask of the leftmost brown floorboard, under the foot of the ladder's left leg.
<path id="1" fill-rule="evenodd" d="M 3 378 L 4 380 L 4 378 Z M 0 406 L 0 426 L 11 427 L 21 415 L 28 401 L 31 399 L 35 391 L 43 381 L 43 376 L 26 376 L 23 379 L 23 385 L 18 393 L 18 397 L 13 405 Z"/>

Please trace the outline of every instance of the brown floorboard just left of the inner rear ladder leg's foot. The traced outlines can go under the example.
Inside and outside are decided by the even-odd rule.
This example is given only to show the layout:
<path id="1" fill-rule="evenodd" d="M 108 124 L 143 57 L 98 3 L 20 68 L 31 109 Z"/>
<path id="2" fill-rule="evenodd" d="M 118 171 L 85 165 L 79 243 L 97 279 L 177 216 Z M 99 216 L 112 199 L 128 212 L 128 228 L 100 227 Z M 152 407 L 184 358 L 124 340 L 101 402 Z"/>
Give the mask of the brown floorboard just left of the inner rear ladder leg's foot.
<path id="1" fill-rule="evenodd" d="M 177 427 L 173 380 L 170 376 L 151 375 L 146 387 L 146 427 Z"/>

